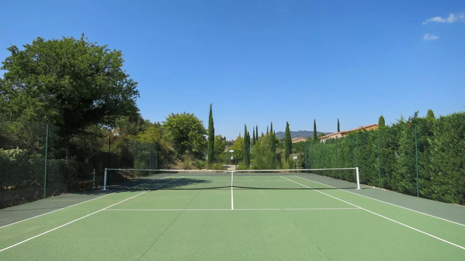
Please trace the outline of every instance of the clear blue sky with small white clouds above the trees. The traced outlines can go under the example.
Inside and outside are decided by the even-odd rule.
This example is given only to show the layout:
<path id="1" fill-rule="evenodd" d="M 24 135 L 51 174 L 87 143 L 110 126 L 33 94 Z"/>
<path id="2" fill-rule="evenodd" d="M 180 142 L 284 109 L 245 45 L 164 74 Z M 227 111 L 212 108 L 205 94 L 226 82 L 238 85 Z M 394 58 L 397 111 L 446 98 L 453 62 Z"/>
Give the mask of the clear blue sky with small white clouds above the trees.
<path id="1" fill-rule="evenodd" d="M 235 139 L 336 131 L 465 106 L 465 1 L 7 1 L 11 44 L 80 37 L 121 50 L 143 117 L 191 112 Z M 452 14 L 452 16 L 451 16 Z"/>

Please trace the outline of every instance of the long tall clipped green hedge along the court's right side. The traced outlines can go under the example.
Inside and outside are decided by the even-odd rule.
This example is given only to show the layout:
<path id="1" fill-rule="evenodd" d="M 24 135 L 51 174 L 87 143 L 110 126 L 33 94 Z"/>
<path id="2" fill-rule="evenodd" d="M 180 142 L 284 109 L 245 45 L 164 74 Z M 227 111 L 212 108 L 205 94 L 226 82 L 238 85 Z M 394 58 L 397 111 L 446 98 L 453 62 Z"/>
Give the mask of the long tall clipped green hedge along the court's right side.
<path id="1" fill-rule="evenodd" d="M 417 111 L 378 130 L 309 143 L 305 153 L 308 168 L 357 166 L 363 184 L 412 196 L 418 186 L 421 197 L 465 204 L 465 112 L 422 118 Z"/>

